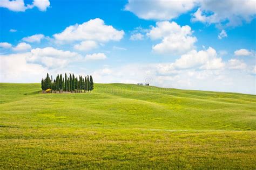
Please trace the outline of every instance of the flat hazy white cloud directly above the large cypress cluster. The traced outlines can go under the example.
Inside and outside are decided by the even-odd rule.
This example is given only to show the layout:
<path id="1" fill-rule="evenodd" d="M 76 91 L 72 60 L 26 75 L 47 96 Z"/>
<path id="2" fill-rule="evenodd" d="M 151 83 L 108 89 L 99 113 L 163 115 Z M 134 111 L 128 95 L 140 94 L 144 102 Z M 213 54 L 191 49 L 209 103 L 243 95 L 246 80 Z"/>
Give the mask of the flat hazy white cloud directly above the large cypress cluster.
<path id="1" fill-rule="evenodd" d="M 52 47 L 32 49 L 26 58 L 32 63 L 42 63 L 47 68 L 64 68 L 71 61 L 82 59 L 82 56 L 75 52 L 63 51 Z"/>

